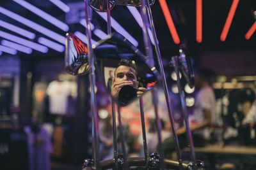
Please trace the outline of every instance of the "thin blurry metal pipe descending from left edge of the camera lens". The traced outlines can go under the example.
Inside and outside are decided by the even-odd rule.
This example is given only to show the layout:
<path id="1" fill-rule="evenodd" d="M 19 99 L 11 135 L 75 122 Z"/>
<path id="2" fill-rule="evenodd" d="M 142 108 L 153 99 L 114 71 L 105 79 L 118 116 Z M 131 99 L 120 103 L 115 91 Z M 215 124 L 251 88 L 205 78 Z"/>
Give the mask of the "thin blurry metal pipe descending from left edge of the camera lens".
<path id="1" fill-rule="evenodd" d="M 124 167 L 123 167 L 123 169 L 128 170 L 127 154 L 126 154 L 126 150 L 125 150 L 124 125 L 122 124 L 121 112 L 120 112 L 120 106 L 119 105 L 117 106 L 117 111 L 118 111 L 118 122 L 119 122 L 119 131 L 120 131 L 122 152 L 123 152 L 123 156 L 124 156 Z"/>

